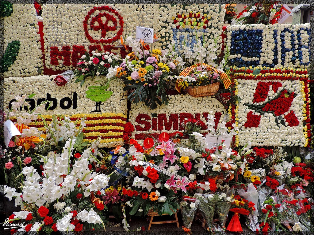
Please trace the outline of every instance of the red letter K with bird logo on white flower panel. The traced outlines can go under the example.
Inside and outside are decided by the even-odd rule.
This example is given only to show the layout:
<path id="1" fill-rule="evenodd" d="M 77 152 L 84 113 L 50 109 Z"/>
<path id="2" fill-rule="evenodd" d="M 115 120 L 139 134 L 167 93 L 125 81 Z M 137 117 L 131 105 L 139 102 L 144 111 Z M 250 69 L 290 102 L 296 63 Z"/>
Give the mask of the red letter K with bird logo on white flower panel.
<path id="1" fill-rule="evenodd" d="M 272 88 L 272 91 L 276 93 L 279 88 L 282 87 L 282 84 L 278 81 L 257 82 L 257 87 L 253 95 L 254 104 L 244 104 L 248 106 L 248 109 L 255 111 L 249 111 L 247 113 L 247 121 L 244 123 L 245 128 L 257 128 L 259 126 L 261 115 L 254 113 L 260 113 L 262 115 L 264 113 L 272 113 L 275 116 L 275 122 L 277 124 L 281 123 L 284 126 L 295 127 L 299 125 L 300 122 L 293 110 L 284 115 L 290 110 L 291 103 L 294 97 L 296 97 L 295 92 L 282 89 L 276 97 L 267 99 L 270 87 Z"/>

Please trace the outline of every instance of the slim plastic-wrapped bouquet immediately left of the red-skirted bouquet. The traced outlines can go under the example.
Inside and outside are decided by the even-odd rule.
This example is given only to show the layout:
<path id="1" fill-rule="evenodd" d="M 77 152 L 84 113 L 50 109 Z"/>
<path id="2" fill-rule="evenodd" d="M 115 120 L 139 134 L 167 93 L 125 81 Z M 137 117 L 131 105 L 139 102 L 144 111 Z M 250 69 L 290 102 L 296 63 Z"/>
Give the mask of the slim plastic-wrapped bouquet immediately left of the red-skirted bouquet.
<path id="1" fill-rule="evenodd" d="M 219 195 L 220 200 L 216 202 L 215 214 L 219 219 L 219 223 L 223 229 L 226 230 L 226 220 L 231 206 L 231 197 L 227 197 L 225 193 Z"/>

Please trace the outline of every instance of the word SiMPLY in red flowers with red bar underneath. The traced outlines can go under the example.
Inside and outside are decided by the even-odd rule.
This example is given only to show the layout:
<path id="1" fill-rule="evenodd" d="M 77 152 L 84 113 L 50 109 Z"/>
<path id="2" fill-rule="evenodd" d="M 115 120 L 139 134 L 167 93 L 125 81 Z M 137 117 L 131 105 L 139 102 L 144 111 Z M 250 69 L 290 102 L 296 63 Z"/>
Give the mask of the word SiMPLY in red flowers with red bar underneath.
<path id="1" fill-rule="evenodd" d="M 217 125 L 219 123 L 219 120 L 221 118 L 222 113 L 216 112 L 215 113 L 215 128 L 217 128 Z M 178 131 L 184 131 L 184 123 L 186 121 L 189 121 L 191 123 L 199 123 L 199 126 L 202 127 L 202 130 L 207 129 L 207 125 L 204 123 L 204 121 L 207 121 L 208 112 L 203 113 L 171 113 L 171 114 L 165 114 L 165 113 L 151 113 L 151 115 L 140 113 L 135 119 L 134 128 L 136 131 L 135 139 L 146 139 L 147 136 L 145 131 L 150 131 L 150 134 L 154 138 L 158 138 L 160 132 L 162 131 L 172 131 L 171 134 L 175 134 Z M 169 118 L 167 118 L 169 117 Z M 203 120 L 202 120 L 203 119 Z M 139 132 L 139 133 L 138 133 Z"/>

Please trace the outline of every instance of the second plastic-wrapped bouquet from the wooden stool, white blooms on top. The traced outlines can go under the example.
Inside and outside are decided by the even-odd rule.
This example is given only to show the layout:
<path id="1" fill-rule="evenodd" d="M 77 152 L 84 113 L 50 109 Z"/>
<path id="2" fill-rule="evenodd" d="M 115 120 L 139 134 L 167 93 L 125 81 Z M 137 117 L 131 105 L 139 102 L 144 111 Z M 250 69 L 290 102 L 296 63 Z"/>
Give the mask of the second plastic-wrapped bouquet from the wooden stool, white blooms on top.
<path id="1" fill-rule="evenodd" d="M 218 195 L 213 194 L 195 194 L 196 199 L 200 201 L 198 209 L 202 212 L 203 217 L 206 220 L 207 229 L 212 230 L 213 217 Z"/>

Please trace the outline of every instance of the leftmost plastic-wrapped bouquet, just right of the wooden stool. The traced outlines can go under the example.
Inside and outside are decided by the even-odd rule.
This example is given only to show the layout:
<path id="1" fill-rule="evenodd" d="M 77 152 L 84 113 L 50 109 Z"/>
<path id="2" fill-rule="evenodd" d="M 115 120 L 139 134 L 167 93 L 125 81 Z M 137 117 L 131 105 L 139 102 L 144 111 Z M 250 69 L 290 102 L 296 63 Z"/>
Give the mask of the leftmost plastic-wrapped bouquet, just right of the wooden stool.
<path id="1" fill-rule="evenodd" d="M 200 201 L 194 197 L 184 196 L 180 202 L 180 209 L 185 232 L 191 232 L 191 225 Z"/>

